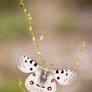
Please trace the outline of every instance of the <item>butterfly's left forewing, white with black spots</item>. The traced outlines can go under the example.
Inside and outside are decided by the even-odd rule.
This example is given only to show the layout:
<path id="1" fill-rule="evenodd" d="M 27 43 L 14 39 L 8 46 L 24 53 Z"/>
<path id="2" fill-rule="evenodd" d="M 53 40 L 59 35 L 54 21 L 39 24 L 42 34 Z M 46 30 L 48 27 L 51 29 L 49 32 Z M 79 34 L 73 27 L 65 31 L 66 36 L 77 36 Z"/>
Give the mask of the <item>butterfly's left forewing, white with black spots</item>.
<path id="1" fill-rule="evenodd" d="M 24 73 L 31 73 L 37 70 L 39 65 L 28 56 L 21 56 L 18 62 L 18 68 Z"/>

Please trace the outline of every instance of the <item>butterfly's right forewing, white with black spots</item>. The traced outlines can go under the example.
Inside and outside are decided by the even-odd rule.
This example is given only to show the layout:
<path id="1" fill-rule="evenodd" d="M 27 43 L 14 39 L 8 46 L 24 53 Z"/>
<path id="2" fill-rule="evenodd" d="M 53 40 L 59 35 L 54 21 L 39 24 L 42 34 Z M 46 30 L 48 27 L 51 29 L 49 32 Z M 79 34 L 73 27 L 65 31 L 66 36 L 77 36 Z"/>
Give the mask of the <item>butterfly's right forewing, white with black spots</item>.
<path id="1" fill-rule="evenodd" d="M 54 77 L 60 85 L 71 84 L 72 81 L 76 78 L 76 73 L 71 70 L 53 70 Z"/>

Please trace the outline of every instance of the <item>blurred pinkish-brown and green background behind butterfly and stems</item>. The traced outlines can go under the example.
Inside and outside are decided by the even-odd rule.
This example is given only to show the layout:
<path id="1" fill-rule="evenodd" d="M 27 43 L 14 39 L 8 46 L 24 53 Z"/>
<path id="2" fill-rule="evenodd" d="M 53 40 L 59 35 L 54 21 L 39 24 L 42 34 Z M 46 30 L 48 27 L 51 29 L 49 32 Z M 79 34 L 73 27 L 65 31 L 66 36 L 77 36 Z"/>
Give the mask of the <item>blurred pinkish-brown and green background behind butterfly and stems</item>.
<path id="1" fill-rule="evenodd" d="M 24 0 L 31 11 L 33 31 L 49 69 L 72 69 L 83 40 L 87 47 L 78 65 L 77 79 L 57 92 L 92 92 L 92 0 Z M 41 64 L 18 0 L 0 0 L 0 92 L 21 92 L 28 74 L 17 69 L 21 55 Z"/>

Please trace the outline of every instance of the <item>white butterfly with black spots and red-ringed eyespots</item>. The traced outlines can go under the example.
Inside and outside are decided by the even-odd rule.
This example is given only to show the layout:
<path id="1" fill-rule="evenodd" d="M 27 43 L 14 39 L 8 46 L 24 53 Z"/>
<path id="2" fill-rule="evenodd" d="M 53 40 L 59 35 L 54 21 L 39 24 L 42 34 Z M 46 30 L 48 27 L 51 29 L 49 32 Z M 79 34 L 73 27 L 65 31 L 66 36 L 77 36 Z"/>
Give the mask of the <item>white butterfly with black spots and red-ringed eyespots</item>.
<path id="1" fill-rule="evenodd" d="M 27 56 L 20 57 L 18 68 L 24 73 L 31 73 L 25 81 L 25 86 L 30 92 L 55 92 L 55 80 L 60 85 L 68 85 L 76 77 L 76 73 L 71 70 L 42 68 Z"/>

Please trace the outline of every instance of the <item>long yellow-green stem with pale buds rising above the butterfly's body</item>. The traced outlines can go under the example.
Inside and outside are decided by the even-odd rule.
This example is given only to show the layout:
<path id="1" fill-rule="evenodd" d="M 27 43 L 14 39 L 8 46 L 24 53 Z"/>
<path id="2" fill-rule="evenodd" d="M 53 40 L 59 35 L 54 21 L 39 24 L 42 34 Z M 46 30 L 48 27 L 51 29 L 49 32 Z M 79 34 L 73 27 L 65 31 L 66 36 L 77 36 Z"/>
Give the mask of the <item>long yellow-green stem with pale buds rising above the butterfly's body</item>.
<path id="1" fill-rule="evenodd" d="M 30 15 L 30 13 L 27 12 L 27 9 L 24 7 L 24 2 L 23 2 L 23 0 L 19 0 L 19 3 L 20 3 L 20 6 L 22 7 L 22 9 L 23 9 L 23 11 L 24 11 L 24 15 L 25 15 L 26 20 L 27 20 L 27 23 L 28 23 L 28 25 L 29 25 L 29 31 L 30 31 L 30 33 L 31 33 L 33 43 L 34 43 L 34 45 L 35 45 L 36 48 L 37 48 L 37 54 L 40 56 L 41 61 L 42 61 L 42 66 L 45 68 L 45 67 L 46 67 L 46 64 L 45 64 L 44 57 L 43 57 L 43 55 L 42 55 L 42 53 L 41 53 L 41 51 L 40 51 L 40 47 L 39 47 L 40 44 L 37 42 L 36 37 L 35 37 L 35 35 L 34 35 L 34 32 L 33 32 L 33 30 L 32 30 L 32 24 L 31 24 L 32 17 L 31 17 L 31 15 Z M 42 39 L 43 39 L 43 36 L 40 37 L 40 40 L 42 40 Z"/>

